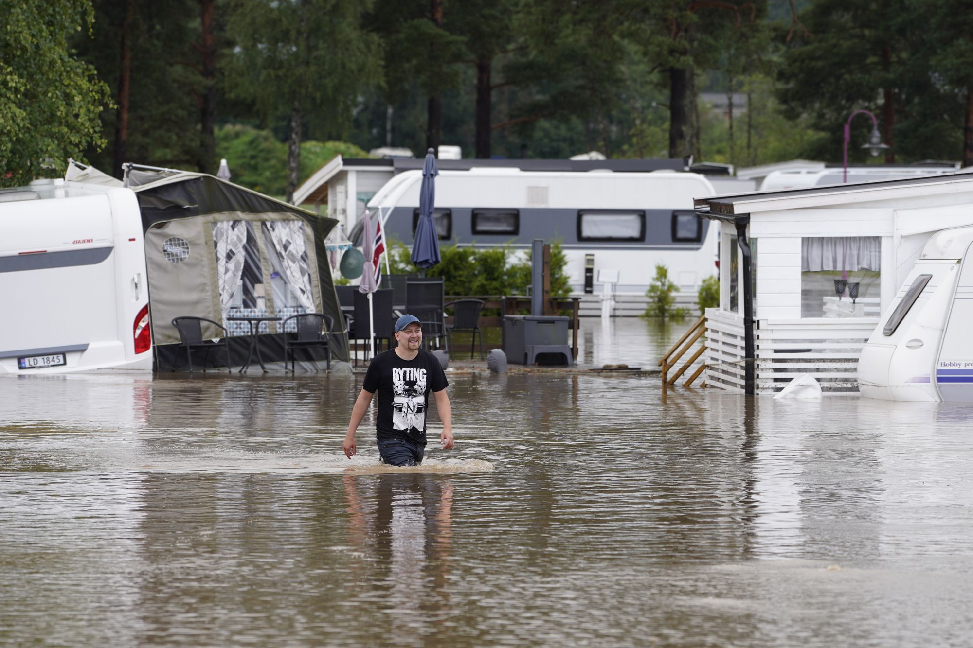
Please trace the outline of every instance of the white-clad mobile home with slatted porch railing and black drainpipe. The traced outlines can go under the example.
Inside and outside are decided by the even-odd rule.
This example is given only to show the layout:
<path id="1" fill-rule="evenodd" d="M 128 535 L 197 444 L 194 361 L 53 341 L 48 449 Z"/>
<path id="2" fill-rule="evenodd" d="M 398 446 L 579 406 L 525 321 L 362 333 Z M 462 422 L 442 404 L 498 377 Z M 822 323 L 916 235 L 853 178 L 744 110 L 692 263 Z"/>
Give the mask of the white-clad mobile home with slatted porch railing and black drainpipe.
<path id="1" fill-rule="evenodd" d="M 973 225 L 973 174 L 696 206 L 723 234 L 720 306 L 706 311 L 707 384 L 773 393 L 810 373 L 825 390 L 856 391 L 862 347 L 930 236 Z"/>

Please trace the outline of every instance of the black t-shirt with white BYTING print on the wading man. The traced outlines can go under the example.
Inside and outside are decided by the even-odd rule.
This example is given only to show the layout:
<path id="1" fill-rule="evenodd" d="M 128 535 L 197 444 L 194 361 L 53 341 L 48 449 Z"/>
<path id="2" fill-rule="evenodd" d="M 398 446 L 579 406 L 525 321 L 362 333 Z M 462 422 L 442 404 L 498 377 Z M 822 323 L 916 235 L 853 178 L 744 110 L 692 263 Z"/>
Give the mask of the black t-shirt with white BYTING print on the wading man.
<path id="1" fill-rule="evenodd" d="M 419 349 L 412 360 L 403 360 L 391 348 L 379 353 L 365 373 L 362 387 L 378 392 L 378 439 L 408 437 L 425 444 L 425 418 L 429 392 L 449 386 L 442 365 L 429 351 Z"/>

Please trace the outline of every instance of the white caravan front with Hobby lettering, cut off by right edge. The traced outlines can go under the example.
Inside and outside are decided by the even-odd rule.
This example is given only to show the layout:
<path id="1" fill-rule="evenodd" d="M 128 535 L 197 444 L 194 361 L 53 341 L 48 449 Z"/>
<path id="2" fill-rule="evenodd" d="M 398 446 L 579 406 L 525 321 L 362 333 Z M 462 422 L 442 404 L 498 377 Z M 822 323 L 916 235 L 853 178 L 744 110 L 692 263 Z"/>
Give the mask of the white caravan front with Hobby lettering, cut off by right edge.
<path id="1" fill-rule="evenodd" d="M 862 396 L 973 401 L 973 227 L 933 234 L 858 361 Z"/>

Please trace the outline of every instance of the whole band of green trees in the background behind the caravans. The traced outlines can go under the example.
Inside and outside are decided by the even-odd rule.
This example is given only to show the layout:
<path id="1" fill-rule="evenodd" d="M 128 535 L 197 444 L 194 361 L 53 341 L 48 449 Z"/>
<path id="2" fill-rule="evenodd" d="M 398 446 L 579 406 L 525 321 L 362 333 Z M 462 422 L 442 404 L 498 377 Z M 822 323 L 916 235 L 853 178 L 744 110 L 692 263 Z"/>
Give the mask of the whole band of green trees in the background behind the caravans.
<path id="1" fill-rule="evenodd" d="M 840 162 L 858 109 L 878 118 L 886 162 L 973 163 L 966 4 L 11 2 L 3 182 L 56 174 L 67 157 L 119 174 L 122 160 L 212 170 L 231 155 L 234 178 L 286 197 L 318 162 L 302 142 L 421 155 L 433 136 L 467 158 Z M 742 93 L 746 110 L 718 114 L 702 91 Z M 851 126 L 850 161 L 872 161 L 860 149 L 871 121 Z"/>

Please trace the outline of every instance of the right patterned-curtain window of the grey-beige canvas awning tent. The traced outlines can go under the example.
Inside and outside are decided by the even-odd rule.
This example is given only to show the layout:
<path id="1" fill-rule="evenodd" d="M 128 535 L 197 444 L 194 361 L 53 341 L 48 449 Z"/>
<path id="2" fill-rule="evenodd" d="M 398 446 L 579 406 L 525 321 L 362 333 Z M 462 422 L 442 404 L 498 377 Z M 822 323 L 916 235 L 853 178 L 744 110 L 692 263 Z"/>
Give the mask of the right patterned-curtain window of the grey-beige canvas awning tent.
<path id="1" fill-rule="evenodd" d="M 262 229 L 271 266 L 274 314 L 286 319 L 301 312 L 314 312 L 304 222 L 269 221 Z M 295 322 L 287 326 L 289 331 L 297 330 Z"/>

